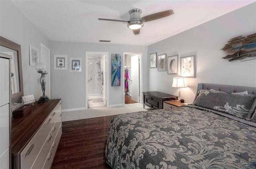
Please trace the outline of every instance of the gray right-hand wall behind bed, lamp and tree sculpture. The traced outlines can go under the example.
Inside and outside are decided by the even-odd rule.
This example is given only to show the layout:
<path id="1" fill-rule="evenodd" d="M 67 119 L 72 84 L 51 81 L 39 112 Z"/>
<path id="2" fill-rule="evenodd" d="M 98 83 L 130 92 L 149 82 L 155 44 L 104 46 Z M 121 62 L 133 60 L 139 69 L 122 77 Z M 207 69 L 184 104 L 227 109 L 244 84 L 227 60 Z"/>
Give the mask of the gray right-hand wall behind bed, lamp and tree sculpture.
<path id="1" fill-rule="evenodd" d="M 221 58 L 229 53 L 220 50 L 229 39 L 255 32 L 256 2 L 152 44 L 148 54 L 196 55 L 196 78 L 187 78 L 189 87 L 181 91 L 181 97 L 192 103 L 198 83 L 256 86 L 256 60 L 228 62 Z M 171 87 L 172 78 L 180 75 L 180 59 L 178 65 L 178 75 L 148 69 L 149 90 L 178 95 L 178 89 Z"/>

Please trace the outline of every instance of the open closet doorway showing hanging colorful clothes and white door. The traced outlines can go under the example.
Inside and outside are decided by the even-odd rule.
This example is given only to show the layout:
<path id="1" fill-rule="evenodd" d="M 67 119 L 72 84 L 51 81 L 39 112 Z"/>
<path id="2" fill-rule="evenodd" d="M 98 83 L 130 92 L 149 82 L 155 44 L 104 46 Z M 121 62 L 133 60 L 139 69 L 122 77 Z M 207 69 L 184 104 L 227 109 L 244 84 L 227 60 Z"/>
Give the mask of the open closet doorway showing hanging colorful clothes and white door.
<path id="1" fill-rule="evenodd" d="M 140 103 L 141 54 L 124 52 L 124 104 Z"/>

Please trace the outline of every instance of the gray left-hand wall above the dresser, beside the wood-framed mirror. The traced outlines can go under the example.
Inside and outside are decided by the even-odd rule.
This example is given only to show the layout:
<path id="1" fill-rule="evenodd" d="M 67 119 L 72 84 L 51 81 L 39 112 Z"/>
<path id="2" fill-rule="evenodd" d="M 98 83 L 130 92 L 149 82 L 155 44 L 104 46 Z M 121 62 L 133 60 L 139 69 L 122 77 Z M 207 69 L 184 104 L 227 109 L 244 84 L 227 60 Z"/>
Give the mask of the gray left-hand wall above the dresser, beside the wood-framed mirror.
<path id="1" fill-rule="evenodd" d="M 42 96 L 37 84 L 40 74 L 34 66 L 29 66 L 29 45 L 39 50 L 40 57 L 41 43 L 49 47 L 50 41 L 12 1 L 0 1 L 0 20 L 0 36 L 21 45 L 24 95 L 33 94 L 38 99 Z"/>

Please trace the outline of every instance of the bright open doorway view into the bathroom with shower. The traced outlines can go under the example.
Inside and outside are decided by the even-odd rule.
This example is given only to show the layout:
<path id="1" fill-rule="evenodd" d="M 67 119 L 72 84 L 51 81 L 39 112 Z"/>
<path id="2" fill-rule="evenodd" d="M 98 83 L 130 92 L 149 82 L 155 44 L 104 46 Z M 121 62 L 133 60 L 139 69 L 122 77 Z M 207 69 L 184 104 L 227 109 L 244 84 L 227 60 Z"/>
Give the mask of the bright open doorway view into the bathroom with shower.
<path id="1" fill-rule="evenodd" d="M 106 52 L 86 52 L 87 108 L 107 105 L 107 57 Z"/>

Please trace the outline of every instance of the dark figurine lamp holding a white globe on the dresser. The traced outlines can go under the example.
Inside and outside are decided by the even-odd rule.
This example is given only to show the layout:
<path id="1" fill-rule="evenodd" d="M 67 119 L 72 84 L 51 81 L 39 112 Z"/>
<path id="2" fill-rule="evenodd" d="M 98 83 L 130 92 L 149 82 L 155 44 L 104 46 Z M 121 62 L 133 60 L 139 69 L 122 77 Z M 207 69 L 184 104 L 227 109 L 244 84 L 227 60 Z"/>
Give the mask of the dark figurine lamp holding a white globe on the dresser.
<path id="1" fill-rule="evenodd" d="M 45 103 L 49 101 L 49 97 L 45 95 L 45 87 L 46 87 L 46 76 L 48 72 L 45 71 L 45 65 L 42 62 L 39 62 L 35 65 L 35 68 L 39 74 L 41 74 L 40 77 L 40 84 L 41 89 L 43 92 L 43 95 L 39 98 L 38 103 Z"/>

